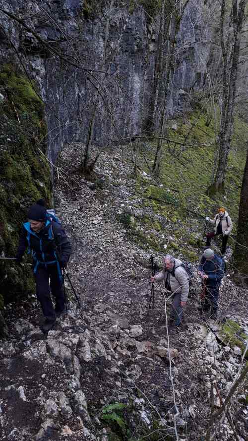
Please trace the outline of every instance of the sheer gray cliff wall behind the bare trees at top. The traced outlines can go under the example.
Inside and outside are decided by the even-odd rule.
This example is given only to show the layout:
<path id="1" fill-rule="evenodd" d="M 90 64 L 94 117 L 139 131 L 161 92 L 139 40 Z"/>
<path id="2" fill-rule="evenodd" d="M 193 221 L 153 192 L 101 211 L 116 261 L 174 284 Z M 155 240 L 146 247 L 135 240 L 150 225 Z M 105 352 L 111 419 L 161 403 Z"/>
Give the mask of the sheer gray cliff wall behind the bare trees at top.
<path id="1" fill-rule="evenodd" d="M 48 151 L 53 161 L 63 143 L 86 140 L 96 88 L 100 95 L 93 142 L 103 146 L 110 139 L 138 133 L 144 73 L 144 100 L 148 103 L 158 50 L 158 26 L 156 22 L 151 25 L 141 7 L 134 8 L 132 13 L 128 8 L 114 7 L 110 13 L 102 10 L 102 15 L 89 15 L 87 19 L 79 0 L 11 1 L 11 6 L 0 0 L 0 7 L 31 16 L 25 24 L 45 42 L 43 45 L 20 23 L 0 12 L 5 29 L 0 34 L 0 56 L 5 62 L 22 63 L 38 81 L 46 103 Z M 109 36 L 103 65 L 108 15 Z M 177 36 L 177 65 L 168 98 L 170 116 L 186 110 L 188 91 L 201 86 L 209 57 L 208 46 L 202 43 L 207 37 L 206 29 L 203 6 L 196 0 L 189 1 Z M 54 55 L 46 45 L 50 45 Z M 57 56 L 59 52 L 63 59 Z M 79 68 L 72 65 L 75 62 Z"/>

